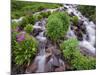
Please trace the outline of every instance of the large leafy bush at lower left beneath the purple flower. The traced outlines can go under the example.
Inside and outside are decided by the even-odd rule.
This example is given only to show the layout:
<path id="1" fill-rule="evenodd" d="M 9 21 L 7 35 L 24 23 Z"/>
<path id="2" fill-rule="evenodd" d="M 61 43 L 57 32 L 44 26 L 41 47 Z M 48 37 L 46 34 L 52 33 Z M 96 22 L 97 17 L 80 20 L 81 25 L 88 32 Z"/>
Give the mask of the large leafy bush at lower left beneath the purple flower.
<path id="1" fill-rule="evenodd" d="M 21 39 L 22 37 L 23 33 L 12 32 L 12 56 L 13 61 L 17 65 L 29 63 L 35 56 L 37 50 L 37 41 L 35 38 L 28 34 L 25 34 L 24 39 Z"/>

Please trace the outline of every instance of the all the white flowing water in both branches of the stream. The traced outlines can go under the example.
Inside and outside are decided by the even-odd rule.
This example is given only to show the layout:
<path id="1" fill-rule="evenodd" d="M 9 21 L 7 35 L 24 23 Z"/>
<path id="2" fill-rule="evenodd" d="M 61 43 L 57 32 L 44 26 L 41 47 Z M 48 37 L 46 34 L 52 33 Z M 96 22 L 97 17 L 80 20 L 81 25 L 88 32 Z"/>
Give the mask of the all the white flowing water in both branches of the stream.
<path id="1" fill-rule="evenodd" d="M 63 7 L 57 8 L 57 9 L 47 9 L 45 10 L 45 12 L 47 11 L 57 11 L 57 10 L 65 10 L 66 12 L 68 12 L 69 14 L 73 13 L 74 15 L 76 15 L 81 21 L 83 21 L 83 24 L 86 27 L 86 34 L 83 34 L 83 40 L 79 40 L 79 46 L 80 47 L 84 47 L 87 50 L 89 50 L 90 52 L 92 52 L 95 55 L 95 32 L 96 32 L 96 25 L 92 22 L 89 21 L 88 18 L 86 18 L 85 16 L 83 16 L 78 10 L 77 10 L 77 6 L 76 5 L 66 5 L 64 4 Z M 39 12 L 35 13 L 38 14 Z M 20 19 L 14 19 L 12 21 L 16 21 L 19 22 L 22 20 L 23 17 L 21 17 Z M 46 29 L 45 29 L 45 25 L 46 25 L 46 20 L 43 19 L 42 21 L 38 21 L 35 23 L 35 25 L 33 26 L 34 29 L 41 29 L 42 31 L 39 32 L 38 35 L 36 35 L 36 39 L 39 42 L 39 46 L 38 46 L 38 54 L 35 58 L 35 61 L 38 65 L 38 68 L 36 70 L 36 72 L 45 72 L 45 62 L 46 62 L 46 52 L 45 52 L 45 46 L 46 46 L 46 41 L 47 38 L 44 35 Z M 88 36 L 88 39 L 87 39 Z M 68 38 L 77 38 L 78 36 L 75 35 L 75 31 L 71 29 L 71 25 L 69 27 L 69 31 L 66 34 L 66 37 Z"/>

